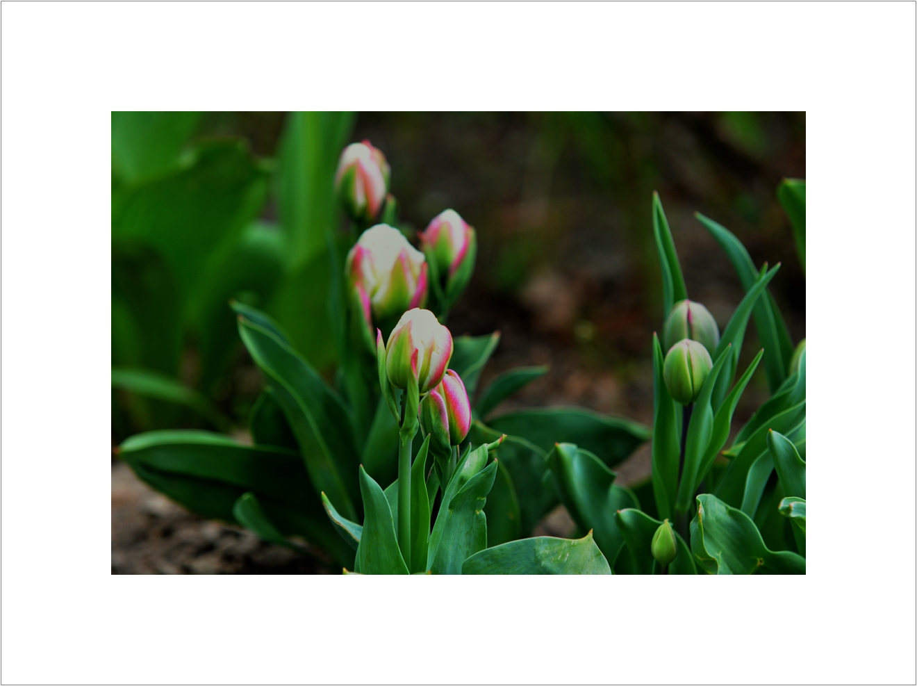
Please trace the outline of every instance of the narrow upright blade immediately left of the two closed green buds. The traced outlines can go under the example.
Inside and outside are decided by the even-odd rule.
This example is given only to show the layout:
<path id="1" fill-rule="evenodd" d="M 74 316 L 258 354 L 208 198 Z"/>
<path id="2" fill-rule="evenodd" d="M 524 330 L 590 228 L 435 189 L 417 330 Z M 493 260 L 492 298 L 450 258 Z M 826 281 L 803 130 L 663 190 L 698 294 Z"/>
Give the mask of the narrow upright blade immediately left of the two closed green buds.
<path id="1" fill-rule="evenodd" d="M 659 337 L 653 333 L 653 495 L 659 516 L 668 519 L 679 488 L 678 408 L 662 378 L 665 360 Z"/>

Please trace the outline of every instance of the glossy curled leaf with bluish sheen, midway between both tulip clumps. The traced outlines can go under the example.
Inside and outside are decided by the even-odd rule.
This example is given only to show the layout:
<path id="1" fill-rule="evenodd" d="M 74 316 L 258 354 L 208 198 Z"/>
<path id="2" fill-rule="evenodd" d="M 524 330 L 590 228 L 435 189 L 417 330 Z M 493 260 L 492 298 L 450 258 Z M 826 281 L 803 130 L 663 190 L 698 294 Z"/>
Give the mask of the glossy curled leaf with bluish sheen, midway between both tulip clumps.
<path id="1" fill-rule="evenodd" d="M 560 500 L 583 531 L 593 532 L 605 559 L 618 557 L 624 538 L 614 513 L 639 507 L 630 489 L 613 483 L 615 473 L 601 459 L 571 443 L 558 443 L 547 455 Z"/>

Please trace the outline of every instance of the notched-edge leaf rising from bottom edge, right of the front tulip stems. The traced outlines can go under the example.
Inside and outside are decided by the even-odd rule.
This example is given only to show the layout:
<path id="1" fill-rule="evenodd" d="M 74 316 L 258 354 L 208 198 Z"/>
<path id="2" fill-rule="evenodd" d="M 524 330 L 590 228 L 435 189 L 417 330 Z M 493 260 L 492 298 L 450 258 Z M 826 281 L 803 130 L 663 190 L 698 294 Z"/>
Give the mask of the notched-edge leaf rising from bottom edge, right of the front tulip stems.
<path id="1" fill-rule="evenodd" d="M 436 525 L 443 522 L 436 556 L 429 570 L 434 574 L 461 574 L 462 563 L 487 548 L 487 515 L 484 505 L 497 475 L 493 460 L 456 492 L 444 509 L 440 507 Z"/>

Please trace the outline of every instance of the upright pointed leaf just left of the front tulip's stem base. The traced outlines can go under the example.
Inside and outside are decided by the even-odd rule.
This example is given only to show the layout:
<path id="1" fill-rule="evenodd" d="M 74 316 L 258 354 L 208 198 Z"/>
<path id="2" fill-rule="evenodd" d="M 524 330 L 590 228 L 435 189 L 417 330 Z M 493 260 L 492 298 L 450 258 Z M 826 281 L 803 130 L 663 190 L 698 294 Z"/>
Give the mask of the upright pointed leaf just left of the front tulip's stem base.
<path id="1" fill-rule="evenodd" d="M 360 574 L 407 574 L 398 548 L 392 508 L 379 484 L 359 468 L 359 490 L 363 495 L 363 530 L 357 559 Z"/>

